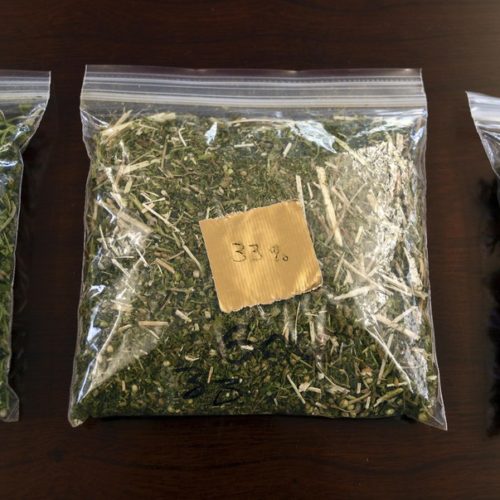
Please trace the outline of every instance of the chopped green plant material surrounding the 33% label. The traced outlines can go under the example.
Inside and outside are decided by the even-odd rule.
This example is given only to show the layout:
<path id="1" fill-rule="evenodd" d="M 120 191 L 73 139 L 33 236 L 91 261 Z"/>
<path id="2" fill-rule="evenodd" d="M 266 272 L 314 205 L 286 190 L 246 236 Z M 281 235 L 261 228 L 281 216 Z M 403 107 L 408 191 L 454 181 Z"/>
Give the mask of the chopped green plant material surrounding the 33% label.
<path id="1" fill-rule="evenodd" d="M 425 123 L 390 123 L 127 111 L 96 130 L 72 423 L 280 413 L 442 425 Z M 324 285 L 222 313 L 198 222 L 290 199 Z"/>

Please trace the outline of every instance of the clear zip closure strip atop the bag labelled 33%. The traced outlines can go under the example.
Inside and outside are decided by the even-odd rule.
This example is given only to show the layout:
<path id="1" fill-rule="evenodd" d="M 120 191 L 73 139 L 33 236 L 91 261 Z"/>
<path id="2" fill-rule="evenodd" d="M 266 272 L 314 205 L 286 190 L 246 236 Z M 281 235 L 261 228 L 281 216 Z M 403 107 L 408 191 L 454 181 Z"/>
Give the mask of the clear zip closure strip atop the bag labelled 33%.
<path id="1" fill-rule="evenodd" d="M 419 69 L 228 70 L 87 66 L 82 103 L 234 107 L 425 106 Z"/>

